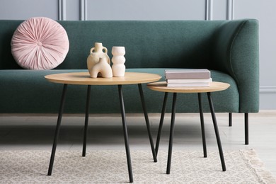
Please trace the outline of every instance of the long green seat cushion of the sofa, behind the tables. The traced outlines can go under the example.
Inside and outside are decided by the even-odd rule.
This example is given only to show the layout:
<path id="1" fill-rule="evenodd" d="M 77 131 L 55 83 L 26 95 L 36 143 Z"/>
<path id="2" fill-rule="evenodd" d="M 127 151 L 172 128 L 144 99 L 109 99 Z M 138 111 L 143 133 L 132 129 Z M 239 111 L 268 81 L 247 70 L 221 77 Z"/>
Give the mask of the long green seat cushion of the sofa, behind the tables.
<path id="1" fill-rule="evenodd" d="M 0 113 L 58 113 L 62 84 L 47 81 L 47 74 L 85 70 L 2 70 L 0 72 Z M 127 71 L 160 74 L 164 80 L 164 69 L 127 69 Z M 213 81 L 231 85 L 226 91 L 212 93 L 214 110 L 217 113 L 238 113 L 238 88 L 231 76 L 211 71 Z M 6 87 L 8 86 L 8 87 Z M 151 91 L 143 84 L 146 108 L 149 113 L 161 113 L 163 93 Z M 86 86 L 69 85 L 64 113 L 84 113 L 86 108 Z M 143 113 L 137 85 L 122 87 L 126 113 Z M 168 96 L 167 112 L 171 112 Z M 231 103 L 230 103 L 231 102 Z M 203 110 L 209 112 L 207 96 L 202 96 Z M 112 108 L 110 108 L 112 107 Z M 177 113 L 198 113 L 197 94 L 179 94 Z M 91 113 L 120 113 L 117 86 L 92 86 Z"/>

